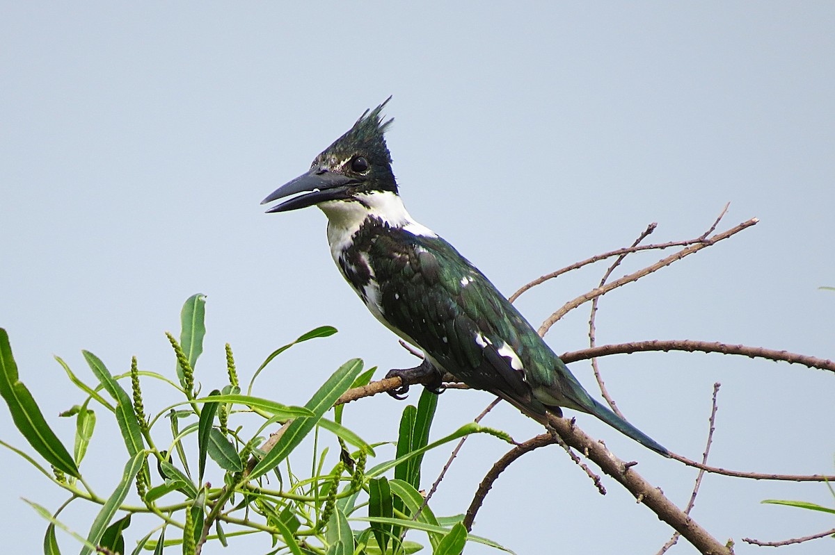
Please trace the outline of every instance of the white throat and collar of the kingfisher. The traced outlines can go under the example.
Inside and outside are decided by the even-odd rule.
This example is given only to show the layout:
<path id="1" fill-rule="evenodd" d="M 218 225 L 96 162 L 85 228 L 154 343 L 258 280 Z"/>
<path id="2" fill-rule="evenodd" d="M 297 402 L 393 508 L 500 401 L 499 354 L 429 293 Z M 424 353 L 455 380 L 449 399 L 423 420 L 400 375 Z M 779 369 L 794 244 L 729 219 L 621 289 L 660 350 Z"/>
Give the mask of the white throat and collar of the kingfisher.
<path id="1" fill-rule="evenodd" d="M 361 193 L 356 197 L 362 202 L 335 200 L 317 205 L 327 216 L 327 243 L 337 263 L 342 251 L 351 245 L 354 233 L 368 218 L 378 218 L 392 228 L 402 228 L 412 235 L 438 237 L 431 229 L 417 223 L 407 213 L 401 198 L 391 191 Z"/>

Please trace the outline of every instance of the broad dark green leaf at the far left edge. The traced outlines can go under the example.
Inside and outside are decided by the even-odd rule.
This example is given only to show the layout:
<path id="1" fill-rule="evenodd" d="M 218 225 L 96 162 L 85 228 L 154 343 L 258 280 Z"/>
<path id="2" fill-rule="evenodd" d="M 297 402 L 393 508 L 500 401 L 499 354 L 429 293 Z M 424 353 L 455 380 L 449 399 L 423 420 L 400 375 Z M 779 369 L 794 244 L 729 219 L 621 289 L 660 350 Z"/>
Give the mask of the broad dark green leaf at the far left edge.
<path id="1" fill-rule="evenodd" d="M 14 362 L 8 333 L 3 328 L 0 328 L 0 396 L 12 413 L 14 425 L 29 445 L 53 467 L 73 478 L 80 478 L 73 458 L 52 428 L 49 428 L 32 393 L 18 379 L 18 365 Z"/>

